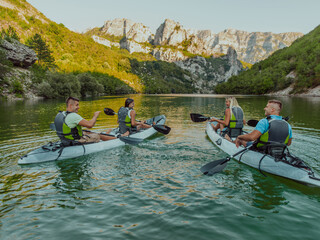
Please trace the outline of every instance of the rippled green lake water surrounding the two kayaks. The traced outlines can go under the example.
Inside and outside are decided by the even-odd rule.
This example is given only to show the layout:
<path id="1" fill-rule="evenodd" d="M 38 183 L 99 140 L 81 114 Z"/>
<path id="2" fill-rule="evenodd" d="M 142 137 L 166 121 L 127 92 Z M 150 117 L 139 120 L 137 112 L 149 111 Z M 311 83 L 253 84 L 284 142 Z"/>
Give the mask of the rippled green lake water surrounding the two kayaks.
<path id="1" fill-rule="evenodd" d="M 320 189 L 235 161 L 215 176 L 200 173 L 226 155 L 189 114 L 220 117 L 223 96 L 131 97 L 139 119 L 165 114 L 171 133 L 28 166 L 18 158 L 57 140 L 49 124 L 64 103 L 0 102 L 0 239 L 319 239 Z M 262 118 L 268 99 L 238 97 L 246 119 Z M 320 98 L 280 99 L 293 126 L 291 152 L 319 173 Z M 90 119 L 124 100 L 85 99 L 79 113 Z M 102 113 L 94 130 L 116 125 Z"/>

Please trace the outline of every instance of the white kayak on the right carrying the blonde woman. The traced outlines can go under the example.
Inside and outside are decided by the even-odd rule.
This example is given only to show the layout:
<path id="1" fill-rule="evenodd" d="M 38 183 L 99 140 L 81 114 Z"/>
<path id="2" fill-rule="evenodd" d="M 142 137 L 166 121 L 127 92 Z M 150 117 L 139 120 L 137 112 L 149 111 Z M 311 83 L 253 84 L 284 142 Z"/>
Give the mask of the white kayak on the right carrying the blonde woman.
<path id="1" fill-rule="evenodd" d="M 206 133 L 211 141 L 219 147 L 222 151 L 230 156 L 244 149 L 237 148 L 236 145 L 225 138 L 221 137 L 214 131 L 210 122 L 207 122 Z M 305 162 L 295 164 L 295 158 L 287 160 L 278 160 L 270 155 L 260 153 L 252 150 L 244 150 L 241 154 L 233 157 L 239 162 L 258 169 L 260 172 L 267 172 L 284 178 L 288 178 L 303 184 L 320 187 L 320 176 L 316 174 Z"/>

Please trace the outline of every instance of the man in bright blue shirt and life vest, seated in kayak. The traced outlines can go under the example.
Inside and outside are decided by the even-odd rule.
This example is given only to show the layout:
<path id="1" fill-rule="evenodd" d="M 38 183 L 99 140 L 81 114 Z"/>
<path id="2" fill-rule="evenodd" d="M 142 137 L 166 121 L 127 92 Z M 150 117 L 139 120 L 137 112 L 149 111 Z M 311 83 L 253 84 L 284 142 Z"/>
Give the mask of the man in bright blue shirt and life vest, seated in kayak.
<path id="1" fill-rule="evenodd" d="M 235 140 L 236 146 L 247 146 L 247 143 L 250 141 L 255 141 L 253 145 L 257 150 L 263 149 L 270 142 L 284 143 L 290 146 L 292 142 L 292 128 L 280 116 L 281 109 L 281 101 L 269 100 L 264 108 L 266 118 L 261 119 L 251 133 L 239 135 Z"/>

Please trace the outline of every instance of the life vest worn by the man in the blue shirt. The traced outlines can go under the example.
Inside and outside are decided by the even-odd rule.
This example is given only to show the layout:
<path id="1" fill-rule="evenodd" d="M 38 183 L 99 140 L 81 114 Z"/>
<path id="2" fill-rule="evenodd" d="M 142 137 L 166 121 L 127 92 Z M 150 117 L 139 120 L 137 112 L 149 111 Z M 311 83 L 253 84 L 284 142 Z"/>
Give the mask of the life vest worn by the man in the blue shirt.
<path id="1" fill-rule="evenodd" d="M 260 136 L 254 145 L 261 148 L 270 142 L 287 144 L 289 141 L 289 123 L 284 119 L 273 119 L 270 116 L 266 119 L 269 122 L 269 129 Z"/>

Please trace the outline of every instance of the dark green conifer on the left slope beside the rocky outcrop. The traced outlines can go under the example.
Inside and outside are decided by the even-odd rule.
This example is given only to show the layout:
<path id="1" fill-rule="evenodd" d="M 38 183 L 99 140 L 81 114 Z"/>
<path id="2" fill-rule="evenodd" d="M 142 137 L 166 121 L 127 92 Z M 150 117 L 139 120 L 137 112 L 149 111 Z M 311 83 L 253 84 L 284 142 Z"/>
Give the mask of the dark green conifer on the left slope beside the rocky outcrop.
<path id="1" fill-rule="evenodd" d="M 38 33 L 33 35 L 31 38 L 27 39 L 26 45 L 32 48 L 37 53 L 39 65 L 46 68 L 51 68 L 55 66 L 55 60 L 52 56 L 52 52 L 49 49 L 49 46 Z"/>

